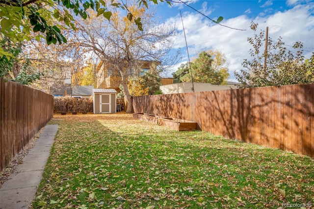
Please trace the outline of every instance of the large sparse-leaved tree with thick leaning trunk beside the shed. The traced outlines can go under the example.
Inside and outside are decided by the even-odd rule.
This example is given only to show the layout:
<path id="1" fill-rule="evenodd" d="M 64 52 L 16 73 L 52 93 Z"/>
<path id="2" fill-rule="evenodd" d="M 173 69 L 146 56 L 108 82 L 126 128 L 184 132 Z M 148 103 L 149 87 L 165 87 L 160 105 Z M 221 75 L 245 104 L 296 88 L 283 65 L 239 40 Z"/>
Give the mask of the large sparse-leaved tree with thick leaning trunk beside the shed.
<path id="1" fill-rule="evenodd" d="M 84 52 L 93 52 L 112 70 L 118 71 L 128 105 L 127 112 L 132 112 L 128 79 L 139 69 L 142 60 L 171 66 L 177 57 L 169 57 L 173 45 L 171 37 L 175 27 L 154 21 L 153 13 L 145 7 L 139 7 L 136 1 L 128 1 L 131 13 L 141 18 L 142 29 L 131 24 L 130 17 L 115 10 L 110 22 L 103 22 L 96 14 L 90 13 L 90 19 L 80 21 L 78 31 L 71 43 L 78 45 Z"/>

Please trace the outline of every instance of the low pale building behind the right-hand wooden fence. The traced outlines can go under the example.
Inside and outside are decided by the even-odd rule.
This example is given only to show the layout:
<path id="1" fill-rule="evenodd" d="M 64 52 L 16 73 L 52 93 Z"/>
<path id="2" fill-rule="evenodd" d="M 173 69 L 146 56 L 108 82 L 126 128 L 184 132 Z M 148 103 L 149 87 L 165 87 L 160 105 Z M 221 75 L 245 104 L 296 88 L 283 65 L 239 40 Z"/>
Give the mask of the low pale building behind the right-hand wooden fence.
<path id="1" fill-rule="evenodd" d="M 226 89 L 236 89 L 237 84 L 233 84 L 227 82 L 227 85 L 212 85 L 210 83 L 193 83 L 194 84 L 194 91 L 217 91 L 217 90 L 226 90 Z M 178 93 L 187 93 L 193 92 L 192 90 L 192 82 L 183 82 L 183 83 L 173 83 L 168 85 L 160 86 L 160 90 L 163 94 L 178 94 Z"/>

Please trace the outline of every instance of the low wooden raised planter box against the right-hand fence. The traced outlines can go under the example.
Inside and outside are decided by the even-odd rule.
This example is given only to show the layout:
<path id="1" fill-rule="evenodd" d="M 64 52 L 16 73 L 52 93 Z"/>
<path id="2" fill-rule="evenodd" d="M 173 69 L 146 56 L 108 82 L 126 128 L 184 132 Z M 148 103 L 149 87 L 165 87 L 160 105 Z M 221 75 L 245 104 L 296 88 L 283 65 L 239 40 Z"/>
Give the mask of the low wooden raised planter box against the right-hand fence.
<path id="1" fill-rule="evenodd" d="M 197 130 L 197 123 L 177 118 L 158 118 L 158 124 L 176 131 Z"/>

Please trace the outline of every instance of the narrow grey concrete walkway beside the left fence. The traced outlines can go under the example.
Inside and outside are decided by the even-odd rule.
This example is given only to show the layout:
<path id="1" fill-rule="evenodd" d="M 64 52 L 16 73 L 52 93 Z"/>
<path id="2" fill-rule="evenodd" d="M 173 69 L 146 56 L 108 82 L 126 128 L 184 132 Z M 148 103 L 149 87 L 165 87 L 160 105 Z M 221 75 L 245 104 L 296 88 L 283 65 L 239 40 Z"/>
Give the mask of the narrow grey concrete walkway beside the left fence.
<path id="1" fill-rule="evenodd" d="M 27 209 L 35 198 L 58 125 L 47 125 L 35 142 L 24 163 L 0 188 L 0 209 Z"/>

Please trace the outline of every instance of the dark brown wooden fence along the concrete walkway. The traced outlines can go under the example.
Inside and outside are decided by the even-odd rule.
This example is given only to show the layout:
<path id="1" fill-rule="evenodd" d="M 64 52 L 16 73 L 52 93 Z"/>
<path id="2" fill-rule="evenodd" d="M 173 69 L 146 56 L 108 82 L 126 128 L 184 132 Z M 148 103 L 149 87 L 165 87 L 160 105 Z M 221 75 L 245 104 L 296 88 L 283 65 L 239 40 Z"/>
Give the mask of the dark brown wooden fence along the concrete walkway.
<path id="1" fill-rule="evenodd" d="M 52 95 L 0 78 L 0 171 L 52 115 Z"/>

